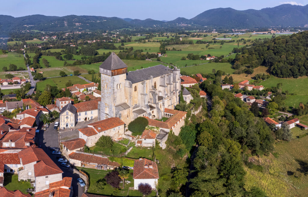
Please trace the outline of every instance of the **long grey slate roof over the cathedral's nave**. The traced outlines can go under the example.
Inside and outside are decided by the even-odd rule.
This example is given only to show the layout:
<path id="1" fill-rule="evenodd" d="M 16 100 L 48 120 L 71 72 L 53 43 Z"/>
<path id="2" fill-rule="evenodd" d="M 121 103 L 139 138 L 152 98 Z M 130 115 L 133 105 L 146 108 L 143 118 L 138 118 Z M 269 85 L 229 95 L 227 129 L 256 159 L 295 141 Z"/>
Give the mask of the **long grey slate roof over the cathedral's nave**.
<path id="1" fill-rule="evenodd" d="M 165 67 L 160 64 L 157 66 L 152 66 L 148 68 L 143 68 L 141 70 L 131 71 L 126 74 L 126 79 L 131 81 L 132 84 L 150 79 L 151 76 L 153 78 L 162 76 L 172 72 L 170 68 Z"/>

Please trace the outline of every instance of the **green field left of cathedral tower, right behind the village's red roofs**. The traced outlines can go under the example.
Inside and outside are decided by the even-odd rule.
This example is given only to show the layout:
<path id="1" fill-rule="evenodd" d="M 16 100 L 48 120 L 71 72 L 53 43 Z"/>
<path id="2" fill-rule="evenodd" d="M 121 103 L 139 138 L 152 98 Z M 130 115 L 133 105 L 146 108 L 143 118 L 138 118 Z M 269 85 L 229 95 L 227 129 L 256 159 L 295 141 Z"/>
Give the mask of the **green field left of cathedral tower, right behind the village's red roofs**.
<path id="1" fill-rule="evenodd" d="M 56 85 L 58 88 L 65 88 L 65 84 L 68 81 L 71 81 L 73 84 L 87 84 L 85 80 L 82 80 L 77 76 L 56 77 L 36 83 L 36 90 L 44 91 L 46 84 L 50 84 L 51 86 Z"/>

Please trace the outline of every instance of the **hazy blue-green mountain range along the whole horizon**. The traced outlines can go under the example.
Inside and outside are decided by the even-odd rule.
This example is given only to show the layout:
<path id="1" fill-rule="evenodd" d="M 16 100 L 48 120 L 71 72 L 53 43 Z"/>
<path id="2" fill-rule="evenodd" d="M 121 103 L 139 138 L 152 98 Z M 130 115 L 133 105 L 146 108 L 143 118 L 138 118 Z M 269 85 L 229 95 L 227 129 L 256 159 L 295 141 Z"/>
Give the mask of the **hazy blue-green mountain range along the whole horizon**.
<path id="1" fill-rule="evenodd" d="M 0 35 L 12 31 L 74 31 L 74 30 L 116 30 L 121 28 L 157 28 L 157 27 L 222 27 L 222 28 L 256 28 L 256 27 L 304 27 L 308 24 L 308 5 L 296 6 L 283 4 L 261 10 L 235 10 L 216 8 L 206 10 L 197 16 L 187 19 L 178 17 L 172 21 L 159 21 L 151 18 L 140 20 L 132 18 L 103 16 L 45 16 L 29 15 L 14 18 L 0 15 Z"/>

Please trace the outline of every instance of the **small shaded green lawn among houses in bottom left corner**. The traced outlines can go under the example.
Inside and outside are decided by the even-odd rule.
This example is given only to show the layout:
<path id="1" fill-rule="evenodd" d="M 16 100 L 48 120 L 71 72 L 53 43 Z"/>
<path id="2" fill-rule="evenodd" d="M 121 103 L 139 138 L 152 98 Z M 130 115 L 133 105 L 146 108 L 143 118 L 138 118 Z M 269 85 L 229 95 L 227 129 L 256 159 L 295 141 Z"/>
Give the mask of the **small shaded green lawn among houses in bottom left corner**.
<path id="1" fill-rule="evenodd" d="M 18 183 L 18 175 L 5 173 L 4 174 L 4 187 L 10 191 L 19 190 L 25 194 L 28 194 L 26 191 L 28 188 L 31 188 L 31 183 Z"/>

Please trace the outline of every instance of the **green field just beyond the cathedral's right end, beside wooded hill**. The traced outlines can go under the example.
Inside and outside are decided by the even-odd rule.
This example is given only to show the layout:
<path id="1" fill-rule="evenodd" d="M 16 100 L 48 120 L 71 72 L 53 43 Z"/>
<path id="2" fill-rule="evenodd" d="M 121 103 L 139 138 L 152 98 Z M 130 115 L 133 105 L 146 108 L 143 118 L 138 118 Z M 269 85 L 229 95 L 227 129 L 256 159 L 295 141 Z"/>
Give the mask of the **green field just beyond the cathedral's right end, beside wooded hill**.
<path id="1" fill-rule="evenodd" d="M 229 74 L 232 74 L 234 72 L 234 69 L 231 68 L 231 64 L 229 63 L 214 63 L 213 62 L 209 64 L 202 64 L 198 66 L 180 68 L 181 71 L 185 71 L 188 74 L 212 73 L 213 69 L 215 69 L 216 71 L 222 70 Z"/>

